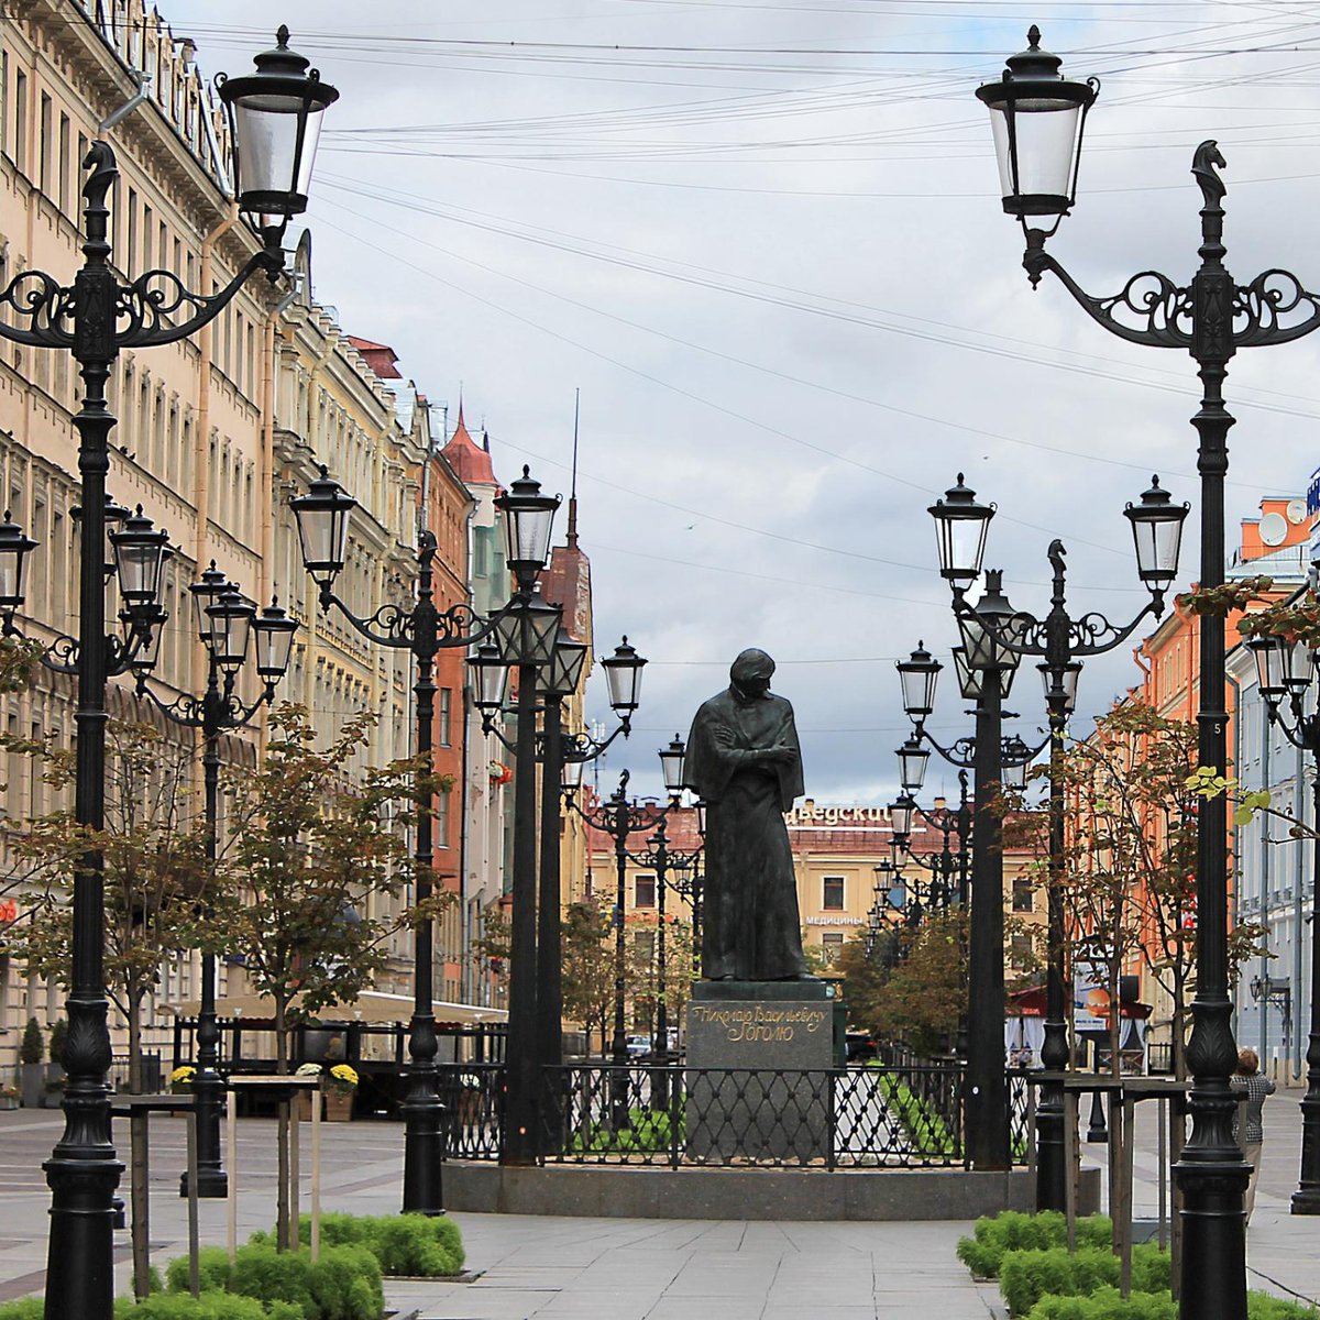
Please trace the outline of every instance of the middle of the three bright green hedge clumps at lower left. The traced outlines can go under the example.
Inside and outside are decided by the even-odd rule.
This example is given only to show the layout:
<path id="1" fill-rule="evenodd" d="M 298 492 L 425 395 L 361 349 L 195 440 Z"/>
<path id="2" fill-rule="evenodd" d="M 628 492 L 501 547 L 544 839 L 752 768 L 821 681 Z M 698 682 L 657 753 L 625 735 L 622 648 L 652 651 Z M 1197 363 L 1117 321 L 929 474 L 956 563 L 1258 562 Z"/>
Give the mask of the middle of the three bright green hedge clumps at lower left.
<path id="1" fill-rule="evenodd" d="M 306 1251 L 276 1251 L 265 1242 L 239 1247 L 234 1266 L 219 1247 L 199 1253 L 206 1291 L 256 1298 L 268 1308 L 277 1302 L 293 1309 L 279 1320 L 380 1320 L 385 1295 L 380 1265 L 363 1246 L 325 1246 L 312 1263 Z M 170 1261 L 166 1282 L 172 1294 L 187 1291 L 187 1258 Z"/>

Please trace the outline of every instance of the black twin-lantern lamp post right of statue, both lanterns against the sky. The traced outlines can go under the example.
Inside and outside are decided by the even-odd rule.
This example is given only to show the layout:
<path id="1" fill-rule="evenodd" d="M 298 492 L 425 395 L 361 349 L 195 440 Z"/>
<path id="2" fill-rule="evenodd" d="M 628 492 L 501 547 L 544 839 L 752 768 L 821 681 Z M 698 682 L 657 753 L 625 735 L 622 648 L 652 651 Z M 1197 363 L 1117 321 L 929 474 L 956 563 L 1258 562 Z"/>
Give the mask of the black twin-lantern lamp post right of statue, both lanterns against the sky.
<path id="1" fill-rule="evenodd" d="M 953 609 L 964 645 L 975 663 L 986 649 L 1015 656 L 1039 656 L 1049 725 L 1049 883 L 1047 887 L 1045 1024 L 1040 1060 L 1045 1077 L 1036 1106 L 1036 1209 L 1063 1210 L 1067 1204 L 1068 1168 L 1064 1148 L 1064 1069 L 1068 1067 L 1065 1020 L 1067 969 L 1064 965 L 1064 733 L 1077 702 L 1077 680 L 1086 656 L 1104 655 L 1121 645 L 1147 616 L 1164 612 L 1164 593 L 1177 577 L 1179 548 L 1188 506 L 1175 504 L 1159 478 L 1140 503 L 1129 504 L 1125 516 L 1133 529 L 1137 572 L 1150 601 L 1123 627 L 1101 614 L 1073 618 L 1068 612 L 1068 582 L 1063 541 L 1049 544 L 1052 569 L 1049 612 L 1036 618 L 1014 611 L 1007 602 L 972 606 L 966 589 L 981 576 L 986 536 L 994 517 L 993 504 L 979 504 L 975 492 L 958 482 L 931 510 L 937 527 L 940 573 L 953 593 Z M 990 574 L 987 574 L 989 578 Z"/>

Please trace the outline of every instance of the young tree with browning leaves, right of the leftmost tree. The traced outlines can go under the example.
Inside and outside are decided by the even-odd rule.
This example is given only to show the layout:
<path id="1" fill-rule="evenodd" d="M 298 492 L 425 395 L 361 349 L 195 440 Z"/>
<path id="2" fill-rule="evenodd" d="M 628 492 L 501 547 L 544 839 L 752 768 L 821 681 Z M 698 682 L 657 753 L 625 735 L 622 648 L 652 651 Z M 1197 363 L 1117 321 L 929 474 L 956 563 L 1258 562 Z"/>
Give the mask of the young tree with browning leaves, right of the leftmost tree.
<path id="1" fill-rule="evenodd" d="M 416 820 L 416 760 L 396 760 L 350 777 L 374 722 L 350 719 L 317 751 L 301 706 L 271 717 L 265 764 L 231 772 L 230 837 L 223 884 L 207 941 L 242 953 L 253 989 L 275 1006 L 277 1069 L 289 1065 L 288 1032 L 298 1015 L 352 1003 L 385 964 L 387 941 L 403 927 L 433 920 L 449 900 L 389 908 L 416 882 L 403 826 Z M 450 785 L 437 780 L 440 791 Z"/>

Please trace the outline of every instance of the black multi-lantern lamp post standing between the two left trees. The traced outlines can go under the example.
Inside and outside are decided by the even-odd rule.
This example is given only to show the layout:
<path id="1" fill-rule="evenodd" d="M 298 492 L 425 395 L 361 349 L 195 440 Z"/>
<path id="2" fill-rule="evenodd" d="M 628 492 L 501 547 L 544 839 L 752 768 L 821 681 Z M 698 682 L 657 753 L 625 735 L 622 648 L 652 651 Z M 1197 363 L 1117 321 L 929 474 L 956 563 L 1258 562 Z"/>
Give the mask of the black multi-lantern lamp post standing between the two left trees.
<path id="1" fill-rule="evenodd" d="M 156 655 L 140 657 L 133 665 L 139 697 L 148 697 L 166 719 L 202 733 L 202 772 L 205 783 L 206 859 L 215 866 L 220 797 L 220 734 L 249 725 L 256 713 L 275 700 L 275 689 L 288 673 L 297 619 L 289 618 L 275 602 L 257 615 L 253 606 L 216 569 L 215 561 L 189 590 L 195 609 L 197 634 L 206 647 L 206 690 L 201 697 L 183 696 L 166 702 L 148 684 Z M 248 642 L 256 653 L 261 678 L 260 696 L 244 705 L 235 696 L 239 671 L 248 655 Z M 220 1118 L 224 1114 L 224 1078 L 218 1072 L 220 1031 L 215 1018 L 215 954 L 202 954 L 202 994 L 197 1014 L 197 1076 L 193 1096 L 197 1110 L 197 1195 L 218 1197 L 228 1191 L 220 1155 Z M 180 1195 L 187 1195 L 187 1171 L 180 1179 Z"/>

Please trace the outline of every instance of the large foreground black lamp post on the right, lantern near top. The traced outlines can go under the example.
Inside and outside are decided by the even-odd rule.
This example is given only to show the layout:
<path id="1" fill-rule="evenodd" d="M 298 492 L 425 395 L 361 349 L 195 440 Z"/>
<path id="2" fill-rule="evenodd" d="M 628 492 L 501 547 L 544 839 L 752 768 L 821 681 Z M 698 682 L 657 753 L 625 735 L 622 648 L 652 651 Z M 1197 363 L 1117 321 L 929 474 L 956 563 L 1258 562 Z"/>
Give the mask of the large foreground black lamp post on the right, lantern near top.
<path id="1" fill-rule="evenodd" d="M 978 91 L 997 125 L 995 145 L 1005 182 L 1005 210 L 1022 222 L 1027 240 L 1023 267 L 1032 286 L 1053 272 L 1081 309 L 1110 334 L 1154 348 L 1191 354 L 1201 379 L 1201 407 L 1192 418 L 1201 474 L 1203 591 L 1224 582 L 1224 482 L 1233 416 L 1224 407 L 1224 380 L 1238 348 L 1299 339 L 1320 329 L 1320 301 L 1287 271 L 1269 269 L 1237 284 L 1224 265 L 1224 194 L 1218 145 L 1204 141 L 1192 160 L 1201 190 L 1201 264 L 1191 284 L 1142 271 L 1123 289 L 1093 298 L 1045 252 L 1045 240 L 1076 193 L 1085 110 L 1094 82 L 1077 83 L 1059 73 L 1061 61 L 1039 49 L 1008 61 L 1003 78 Z M 1059 181 L 1068 180 L 1065 187 Z M 1040 228 L 1048 223 L 1049 230 Z M 1228 710 L 1221 627 L 1200 638 L 1197 763 L 1226 772 Z M 1176 1177 L 1183 1191 L 1184 1266 L 1179 1313 L 1187 1320 L 1242 1320 L 1246 1315 L 1246 1236 L 1242 1204 L 1249 1170 L 1233 1140 L 1234 1100 L 1229 1077 L 1237 1061 L 1233 1003 L 1228 993 L 1228 805 L 1222 797 L 1197 814 L 1196 998 L 1188 1061 L 1193 1084 L 1188 1101 L 1192 1134 Z"/>

